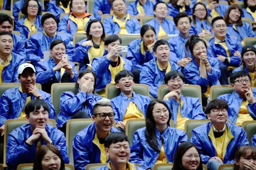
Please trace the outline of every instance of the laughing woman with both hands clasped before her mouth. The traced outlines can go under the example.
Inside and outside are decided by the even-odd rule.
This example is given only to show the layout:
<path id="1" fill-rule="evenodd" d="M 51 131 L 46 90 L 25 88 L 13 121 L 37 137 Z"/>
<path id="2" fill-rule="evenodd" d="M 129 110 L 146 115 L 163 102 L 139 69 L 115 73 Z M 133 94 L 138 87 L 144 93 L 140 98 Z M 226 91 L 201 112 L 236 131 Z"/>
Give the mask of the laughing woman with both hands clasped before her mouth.
<path id="1" fill-rule="evenodd" d="M 207 43 L 198 36 L 190 36 L 185 44 L 186 51 L 194 57 L 184 68 L 184 76 L 189 84 L 200 85 L 202 104 L 207 105 L 212 85 L 220 85 L 218 59 L 207 56 Z"/>

